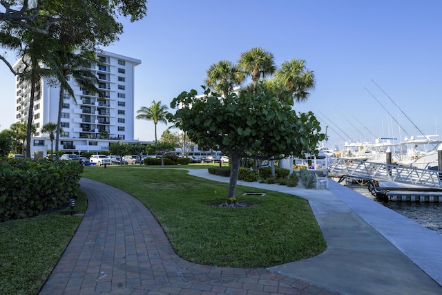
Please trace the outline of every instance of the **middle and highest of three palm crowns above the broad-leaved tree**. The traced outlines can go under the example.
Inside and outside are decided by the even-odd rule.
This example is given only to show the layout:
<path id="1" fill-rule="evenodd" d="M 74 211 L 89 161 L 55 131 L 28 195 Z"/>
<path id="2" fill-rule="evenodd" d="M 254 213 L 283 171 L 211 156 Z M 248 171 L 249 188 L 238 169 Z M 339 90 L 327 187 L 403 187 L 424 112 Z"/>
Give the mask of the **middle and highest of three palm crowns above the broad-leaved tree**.
<path id="1" fill-rule="evenodd" d="M 241 53 L 238 65 L 244 70 L 244 75 L 251 75 L 253 86 L 258 85 L 262 75 L 273 75 L 276 70 L 273 54 L 260 47 L 251 48 L 251 50 Z"/>

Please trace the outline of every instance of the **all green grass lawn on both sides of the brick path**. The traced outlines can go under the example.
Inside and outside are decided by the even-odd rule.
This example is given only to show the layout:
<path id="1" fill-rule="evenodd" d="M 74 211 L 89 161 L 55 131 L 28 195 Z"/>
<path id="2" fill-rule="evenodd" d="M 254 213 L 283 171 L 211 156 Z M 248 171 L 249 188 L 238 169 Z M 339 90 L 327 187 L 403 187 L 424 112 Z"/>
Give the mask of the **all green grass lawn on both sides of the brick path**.
<path id="1" fill-rule="evenodd" d="M 191 164 L 189 168 L 218 166 Z M 185 168 L 186 166 L 178 166 Z M 177 254 L 204 265 L 269 267 L 316 256 L 325 240 L 302 198 L 238 187 L 246 208 L 217 207 L 228 184 L 187 175 L 170 166 L 86 166 L 83 176 L 119 187 L 142 200 L 160 222 Z M 244 192 L 266 196 L 241 196 Z M 86 209 L 79 196 L 75 211 Z M 0 294 L 38 294 L 81 216 L 70 209 L 0 223 Z"/>

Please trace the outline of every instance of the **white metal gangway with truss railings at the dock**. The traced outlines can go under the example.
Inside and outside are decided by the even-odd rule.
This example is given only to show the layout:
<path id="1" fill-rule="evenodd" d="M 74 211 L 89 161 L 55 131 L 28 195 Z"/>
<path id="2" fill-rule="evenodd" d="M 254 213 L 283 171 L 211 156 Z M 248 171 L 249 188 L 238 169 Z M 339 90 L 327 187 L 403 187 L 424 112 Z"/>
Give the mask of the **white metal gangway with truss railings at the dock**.
<path id="1" fill-rule="evenodd" d="M 442 189 L 442 171 L 418 169 L 376 162 L 336 158 L 328 167 L 329 176 L 359 180 L 385 180 Z"/>

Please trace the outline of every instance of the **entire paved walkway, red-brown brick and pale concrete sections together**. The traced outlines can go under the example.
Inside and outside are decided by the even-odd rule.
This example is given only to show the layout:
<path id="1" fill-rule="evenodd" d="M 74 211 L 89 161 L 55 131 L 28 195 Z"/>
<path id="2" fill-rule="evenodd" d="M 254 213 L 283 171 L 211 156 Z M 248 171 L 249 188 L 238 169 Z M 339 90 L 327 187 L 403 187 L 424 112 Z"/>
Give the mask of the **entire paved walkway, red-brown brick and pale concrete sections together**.
<path id="1" fill-rule="evenodd" d="M 141 202 L 80 183 L 88 210 L 40 294 L 442 294 L 442 236 L 334 182 L 328 191 L 238 182 L 307 198 L 325 236 L 323 254 L 269 269 L 182 260 Z"/>

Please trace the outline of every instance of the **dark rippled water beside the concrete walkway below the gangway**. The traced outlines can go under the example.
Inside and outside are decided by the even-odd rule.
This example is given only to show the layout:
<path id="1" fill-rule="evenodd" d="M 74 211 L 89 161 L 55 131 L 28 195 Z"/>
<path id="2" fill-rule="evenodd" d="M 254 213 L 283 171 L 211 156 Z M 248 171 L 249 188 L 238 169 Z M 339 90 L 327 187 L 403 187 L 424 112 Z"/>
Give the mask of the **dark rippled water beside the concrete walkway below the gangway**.
<path id="1" fill-rule="evenodd" d="M 369 193 L 366 186 L 347 185 L 350 189 L 361 193 L 361 195 L 383 204 L 385 207 L 402 214 L 406 218 L 414 220 L 419 224 L 442 234 L 442 203 L 441 202 L 392 202 L 383 201 Z"/>

